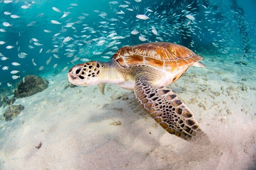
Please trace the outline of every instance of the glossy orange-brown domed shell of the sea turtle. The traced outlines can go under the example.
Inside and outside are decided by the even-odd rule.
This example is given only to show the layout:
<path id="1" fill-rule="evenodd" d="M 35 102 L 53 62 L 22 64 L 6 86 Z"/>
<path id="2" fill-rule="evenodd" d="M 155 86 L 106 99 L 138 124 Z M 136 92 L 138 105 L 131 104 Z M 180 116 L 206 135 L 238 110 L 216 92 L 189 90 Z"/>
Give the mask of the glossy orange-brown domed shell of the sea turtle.
<path id="1" fill-rule="evenodd" d="M 124 46 L 113 57 L 121 66 L 153 66 L 165 70 L 192 65 L 203 59 L 190 49 L 170 42 L 149 42 Z"/>

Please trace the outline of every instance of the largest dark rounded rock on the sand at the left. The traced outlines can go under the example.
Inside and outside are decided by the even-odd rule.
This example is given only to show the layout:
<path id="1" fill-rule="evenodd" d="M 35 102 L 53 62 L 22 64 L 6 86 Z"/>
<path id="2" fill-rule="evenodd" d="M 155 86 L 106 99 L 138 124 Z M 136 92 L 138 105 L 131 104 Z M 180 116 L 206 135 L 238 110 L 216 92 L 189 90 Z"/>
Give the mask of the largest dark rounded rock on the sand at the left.
<path id="1" fill-rule="evenodd" d="M 17 89 L 14 91 L 14 96 L 16 98 L 32 96 L 46 89 L 48 84 L 47 79 L 36 75 L 27 75 L 25 77 L 25 83 L 21 80 L 18 84 Z"/>

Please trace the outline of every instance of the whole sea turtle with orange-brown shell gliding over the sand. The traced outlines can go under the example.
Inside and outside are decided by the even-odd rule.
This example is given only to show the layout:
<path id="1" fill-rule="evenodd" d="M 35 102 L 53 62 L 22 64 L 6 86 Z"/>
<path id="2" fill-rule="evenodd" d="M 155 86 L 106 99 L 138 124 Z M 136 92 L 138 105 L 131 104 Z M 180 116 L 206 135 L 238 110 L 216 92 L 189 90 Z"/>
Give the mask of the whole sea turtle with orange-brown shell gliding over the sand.
<path id="1" fill-rule="evenodd" d="M 139 105 L 166 131 L 191 140 L 205 133 L 190 109 L 165 86 L 178 80 L 190 66 L 206 67 L 202 59 L 178 44 L 149 42 L 124 46 L 109 62 L 78 64 L 69 70 L 68 79 L 74 85 L 98 85 L 102 94 L 106 83 L 134 90 Z"/>

